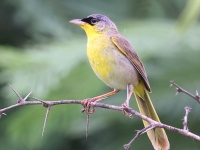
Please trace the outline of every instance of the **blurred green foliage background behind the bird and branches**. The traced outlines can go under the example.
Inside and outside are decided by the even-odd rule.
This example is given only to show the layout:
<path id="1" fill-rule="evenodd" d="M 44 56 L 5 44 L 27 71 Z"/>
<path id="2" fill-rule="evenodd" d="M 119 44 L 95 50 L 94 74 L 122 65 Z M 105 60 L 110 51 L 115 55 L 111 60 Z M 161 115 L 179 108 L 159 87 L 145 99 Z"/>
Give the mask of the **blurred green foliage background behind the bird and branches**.
<path id="1" fill-rule="evenodd" d="M 174 97 L 169 81 L 190 92 L 200 90 L 200 26 L 198 0 L 1 0 L 0 108 L 14 104 L 8 86 L 25 96 L 45 100 L 84 99 L 111 90 L 92 72 L 85 54 L 86 37 L 68 23 L 92 13 L 109 16 L 144 62 L 156 110 L 164 123 L 182 128 L 184 106 L 192 107 L 189 129 L 200 133 L 199 105 L 184 94 Z M 111 9 L 112 8 L 112 9 Z M 177 26 L 178 25 L 178 26 Z M 181 34 L 180 34 L 181 29 Z M 126 92 L 105 100 L 121 105 Z M 136 102 L 131 106 L 137 109 Z M 0 149 L 122 149 L 143 127 L 140 119 L 97 109 L 85 139 L 86 115 L 81 106 L 52 107 L 44 137 L 42 106 L 26 106 L 0 119 Z M 173 113 L 173 114 L 172 114 Z M 117 126 L 116 126 L 117 124 Z M 200 143 L 168 132 L 173 150 L 199 149 Z M 145 143 L 145 144 L 144 144 Z M 146 135 L 132 149 L 152 149 Z"/>

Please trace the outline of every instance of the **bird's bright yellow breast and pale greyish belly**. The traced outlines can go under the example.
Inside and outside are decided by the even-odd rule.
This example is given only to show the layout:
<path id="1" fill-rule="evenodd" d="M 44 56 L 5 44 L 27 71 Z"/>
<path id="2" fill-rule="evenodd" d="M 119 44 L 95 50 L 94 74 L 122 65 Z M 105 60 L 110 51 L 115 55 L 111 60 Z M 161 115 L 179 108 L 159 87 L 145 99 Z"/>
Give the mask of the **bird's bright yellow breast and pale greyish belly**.
<path id="1" fill-rule="evenodd" d="M 138 84 L 137 70 L 116 47 L 88 47 L 87 55 L 95 74 L 111 88 L 126 89 L 128 84 Z"/>

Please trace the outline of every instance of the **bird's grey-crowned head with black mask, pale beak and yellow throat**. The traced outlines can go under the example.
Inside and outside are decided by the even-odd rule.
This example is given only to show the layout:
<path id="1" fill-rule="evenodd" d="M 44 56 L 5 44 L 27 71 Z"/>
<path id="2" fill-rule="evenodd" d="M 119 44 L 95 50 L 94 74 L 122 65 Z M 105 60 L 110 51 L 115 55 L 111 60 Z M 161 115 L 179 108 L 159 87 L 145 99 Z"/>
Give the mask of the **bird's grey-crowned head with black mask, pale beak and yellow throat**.
<path id="1" fill-rule="evenodd" d="M 101 14 L 92 14 L 83 19 L 73 19 L 70 23 L 79 25 L 85 30 L 87 36 L 118 32 L 116 25 L 107 16 Z"/>

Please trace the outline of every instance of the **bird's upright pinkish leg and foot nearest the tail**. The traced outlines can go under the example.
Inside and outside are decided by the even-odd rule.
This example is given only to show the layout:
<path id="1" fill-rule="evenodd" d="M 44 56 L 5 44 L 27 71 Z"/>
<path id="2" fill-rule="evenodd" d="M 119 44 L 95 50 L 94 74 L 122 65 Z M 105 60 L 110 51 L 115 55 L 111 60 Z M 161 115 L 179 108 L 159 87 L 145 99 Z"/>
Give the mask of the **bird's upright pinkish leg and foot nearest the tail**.
<path id="1" fill-rule="evenodd" d="M 129 107 L 129 101 L 130 101 L 130 99 L 131 99 L 131 96 L 132 96 L 132 94 L 133 94 L 133 90 L 134 90 L 134 88 L 133 88 L 133 85 L 127 85 L 127 98 L 126 98 L 126 101 L 122 104 L 122 107 L 123 108 L 127 108 L 127 107 Z M 122 110 L 122 112 L 123 112 L 123 114 L 125 115 L 125 116 L 131 116 L 129 113 L 127 113 L 126 111 L 125 111 L 125 109 L 123 109 Z"/>

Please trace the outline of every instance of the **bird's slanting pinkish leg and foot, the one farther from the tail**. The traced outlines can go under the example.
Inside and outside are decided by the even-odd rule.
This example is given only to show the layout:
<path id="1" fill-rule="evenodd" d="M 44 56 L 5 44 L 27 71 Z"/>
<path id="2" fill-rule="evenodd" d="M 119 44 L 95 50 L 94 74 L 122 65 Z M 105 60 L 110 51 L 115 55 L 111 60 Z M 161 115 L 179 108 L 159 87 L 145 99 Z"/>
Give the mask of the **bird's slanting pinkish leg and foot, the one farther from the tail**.
<path id="1" fill-rule="evenodd" d="M 90 110 L 90 104 L 92 102 L 97 102 L 97 101 L 100 101 L 102 99 L 105 99 L 111 95 L 114 95 L 116 93 L 118 93 L 120 90 L 116 90 L 114 89 L 113 91 L 111 92 L 108 92 L 108 93 L 105 93 L 105 94 L 102 94 L 102 95 L 99 95 L 99 96 L 96 96 L 96 97 L 93 97 L 93 98 L 88 98 L 88 99 L 85 99 L 81 102 L 81 104 L 83 105 L 84 107 L 84 111 L 86 111 L 87 114 L 92 114 L 95 112 L 95 108 L 92 106 L 92 110 Z"/>

